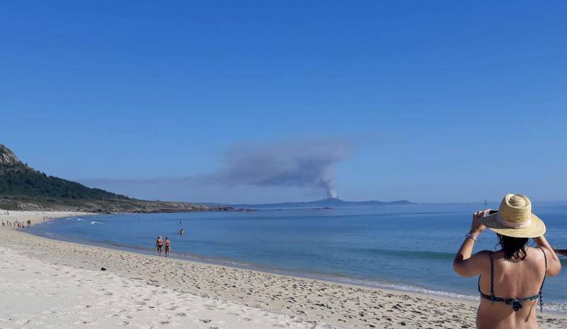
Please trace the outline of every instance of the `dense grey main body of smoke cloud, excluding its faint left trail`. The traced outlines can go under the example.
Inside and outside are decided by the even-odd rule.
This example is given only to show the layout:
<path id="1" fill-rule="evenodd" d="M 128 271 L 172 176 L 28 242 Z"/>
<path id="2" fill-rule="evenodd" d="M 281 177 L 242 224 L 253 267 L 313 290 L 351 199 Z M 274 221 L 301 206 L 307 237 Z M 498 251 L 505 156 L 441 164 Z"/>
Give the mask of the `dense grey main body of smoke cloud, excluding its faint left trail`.
<path id="1" fill-rule="evenodd" d="M 223 185 L 293 186 L 337 197 L 335 164 L 352 147 L 341 141 L 239 144 L 229 149 L 224 166 L 205 180 Z"/>

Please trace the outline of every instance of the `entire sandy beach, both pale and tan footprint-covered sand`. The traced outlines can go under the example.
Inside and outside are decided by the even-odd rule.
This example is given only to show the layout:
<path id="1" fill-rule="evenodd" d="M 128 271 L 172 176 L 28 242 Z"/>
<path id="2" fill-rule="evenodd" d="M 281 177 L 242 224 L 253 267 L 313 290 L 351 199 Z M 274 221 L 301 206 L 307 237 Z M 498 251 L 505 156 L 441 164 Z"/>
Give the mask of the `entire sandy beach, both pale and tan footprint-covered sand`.
<path id="1" fill-rule="evenodd" d="M 9 220 L 43 216 L 11 212 Z M 10 296 L 0 301 L 0 328 L 475 327 L 476 301 L 159 258 L 9 228 L 0 229 L 0 258 L 0 287 Z M 567 328 L 567 316 L 544 313 L 539 323 Z"/>

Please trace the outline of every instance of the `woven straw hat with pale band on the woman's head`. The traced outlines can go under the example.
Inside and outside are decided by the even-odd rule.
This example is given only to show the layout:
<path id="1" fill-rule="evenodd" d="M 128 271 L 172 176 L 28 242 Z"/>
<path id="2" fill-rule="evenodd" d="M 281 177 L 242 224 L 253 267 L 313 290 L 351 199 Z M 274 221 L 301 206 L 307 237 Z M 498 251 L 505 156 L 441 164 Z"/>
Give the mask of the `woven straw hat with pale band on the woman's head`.
<path id="1" fill-rule="evenodd" d="M 545 233 L 545 224 L 532 214 L 532 202 L 525 195 L 507 194 L 498 212 L 481 218 L 488 229 L 513 238 L 536 238 Z"/>

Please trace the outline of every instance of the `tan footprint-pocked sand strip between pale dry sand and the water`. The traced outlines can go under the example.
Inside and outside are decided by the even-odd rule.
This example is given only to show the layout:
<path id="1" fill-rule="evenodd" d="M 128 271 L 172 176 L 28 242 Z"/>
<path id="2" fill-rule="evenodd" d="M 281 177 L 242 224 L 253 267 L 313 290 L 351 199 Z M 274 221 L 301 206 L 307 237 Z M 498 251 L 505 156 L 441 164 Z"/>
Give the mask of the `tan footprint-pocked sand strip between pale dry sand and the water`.
<path id="1" fill-rule="evenodd" d="M 1 217 L 0 217 L 1 219 Z M 278 275 L 191 260 L 58 241 L 13 229 L 0 246 L 50 264 L 137 278 L 203 298 L 222 299 L 332 328 L 473 328 L 477 301 Z M 541 328 L 567 326 L 567 316 L 539 315 Z M 403 323 L 403 324 L 402 324 Z"/>

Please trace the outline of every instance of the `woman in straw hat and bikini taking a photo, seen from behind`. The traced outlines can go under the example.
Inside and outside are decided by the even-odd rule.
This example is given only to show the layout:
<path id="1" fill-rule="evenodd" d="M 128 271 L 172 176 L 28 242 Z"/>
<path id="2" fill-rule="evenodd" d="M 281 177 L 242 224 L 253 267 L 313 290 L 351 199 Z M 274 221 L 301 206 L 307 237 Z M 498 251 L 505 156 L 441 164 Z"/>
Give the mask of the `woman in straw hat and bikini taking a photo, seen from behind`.
<path id="1" fill-rule="evenodd" d="M 473 214 L 471 231 L 453 261 L 461 277 L 479 276 L 476 328 L 538 328 L 534 306 L 539 299 L 541 311 L 544 281 L 559 274 L 561 262 L 544 238 L 544 222 L 532 214 L 525 195 L 505 195 L 498 212 L 490 213 L 486 209 Z M 496 233 L 500 250 L 472 255 L 486 228 Z M 527 246 L 529 238 L 534 238 L 536 248 Z"/>

